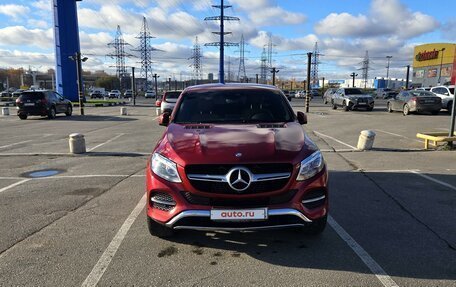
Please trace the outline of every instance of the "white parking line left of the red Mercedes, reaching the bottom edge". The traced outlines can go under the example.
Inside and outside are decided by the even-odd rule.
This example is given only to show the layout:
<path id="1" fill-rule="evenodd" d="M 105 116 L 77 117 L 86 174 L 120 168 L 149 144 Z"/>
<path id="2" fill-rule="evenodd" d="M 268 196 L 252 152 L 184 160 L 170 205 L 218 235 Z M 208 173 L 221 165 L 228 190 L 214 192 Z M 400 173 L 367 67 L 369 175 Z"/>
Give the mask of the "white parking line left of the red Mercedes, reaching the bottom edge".
<path id="1" fill-rule="evenodd" d="M 84 282 L 82 283 L 81 286 L 89 287 L 89 286 L 96 286 L 98 284 L 98 281 L 100 281 L 101 277 L 103 276 L 103 274 L 105 273 L 109 264 L 111 263 L 112 258 L 114 258 L 114 255 L 116 254 L 117 250 L 119 249 L 120 245 L 122 244 L 122 241 L 124 240 L 125 235 L 127 235 L 128 231 L 130 230 L 130 227 L 132 226 L 132 224 L 135 222 L 138 215 L 143 210 L 145 204 L 146 204 L 146 194 L 144 194 L 141 197 L 141 200 L 138 202 L 136 207 L 133 209 L 133 211 L 127 217 L 125 222 L 122 224 L 119 231 L 114 236 L 111 243 L 108 245 L 106 250 L 103 252 L 103 255 L 101 255 L 97 264 L 95 264 L 95 266 L 93 267 L 89 276 L 87 276 L 87 278 L 84 280 Z"/>

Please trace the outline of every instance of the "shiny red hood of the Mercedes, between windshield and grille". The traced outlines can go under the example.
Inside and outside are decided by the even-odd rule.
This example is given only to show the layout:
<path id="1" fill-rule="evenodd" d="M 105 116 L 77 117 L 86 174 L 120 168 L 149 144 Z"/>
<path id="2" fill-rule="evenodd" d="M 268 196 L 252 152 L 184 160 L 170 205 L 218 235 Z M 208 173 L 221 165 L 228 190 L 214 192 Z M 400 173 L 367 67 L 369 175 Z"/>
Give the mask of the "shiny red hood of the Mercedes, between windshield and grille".
<path id="1" fill-rule="evenodd" d="M 275 127 L 171 124 L 157 151 L 185 166 L 188 163 L 296 164 L 317 149 L 302 126 L 292 122 Z"/>

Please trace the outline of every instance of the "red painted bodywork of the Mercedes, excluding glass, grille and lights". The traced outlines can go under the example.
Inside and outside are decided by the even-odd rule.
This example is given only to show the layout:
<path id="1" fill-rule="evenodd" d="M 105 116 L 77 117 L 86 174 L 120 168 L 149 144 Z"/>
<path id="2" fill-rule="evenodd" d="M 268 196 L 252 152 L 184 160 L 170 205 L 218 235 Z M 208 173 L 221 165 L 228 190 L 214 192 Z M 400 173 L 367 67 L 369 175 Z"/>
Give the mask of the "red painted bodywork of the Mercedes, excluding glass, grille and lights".
<path id="1" fill-rule="evenodd" d="M 219 202 L 218 204 L 222 202 L 223 205 L 224 200 L 227 202 L 232 200 L 264 200 L 265 198 L 281 196 L 287 191 L 293 190 L 295 194 L 286 202 L 254 207 L 266 207 L 268 210 L 293 209 L 299 211 L 311 221 L 327 215 L 328 173 L 326 165 L 313 177 L 304 181 L 296 180 L 301 161 L 316 152 L 318 148 L 305 134 L 295 115 L 293 115 L 294 120 L 282 123 L 283 126 L 280 128 L 259 128 L 257 123 L 204 123 L 204 126 L 201 126 L 202 124 L 198 123 L 179 124 L 173 122 L 173 118 L 176 116 L 177 110 L 179 110 L 179 105 L 187 94 L 237 89 L 244 91 L 279 91 L 275 87 L 263 85 L 229 84 L 194 86 L 187 88 L 182 93 L 171 115 L 171 122 L 153 151 L 153 153 L 158 153 L 176 163 L 182 182 L 173 183 L 157 176 L 151 170 L 151 159 L 149 159 L 146 168 L 147 216 L 153 221 L 159 224 L 166 224 L 184 211 L 210 211 L 214 208 L 220 208 L 218 205 L 213 204 L 190 203 L 183 196 L 183 192 L 212 201 L 216 200 Z M 285 96 L 283 96 L 283 100 L 290 107 Z M 242 154 L 242 156 L 238 157 L 236 156 L 237 154 Z M 188 165 L 232 165 L 243 167 L 266 163 L 270 165 L 286 163 L 292 166 L 291 175 L 282 188 L 248 194 L 243 194 L 242 192 L 223 194 L 202 191 L 192 185 L 185 170 Z M 320 190 L 324 194 L 323 201 L 319 206 L 306 207 L 302 203 L 302 199 L 315 190 Z M 151 195 L 155 192 L 171 195 L 175 201 L 175 206 L 170 210 L 155 208 L 151 201 Z M 223 208 L 242 210 L 245 207 L 229 203 L 223 205 Z M 238 222 L 235 225 L 242 228 L 244 222 Z M 267 226 L 267 223 L 264 225 Z M 218 229 L 217 224 L 214 226 L 214 229 Z M 172 228 L 173 226 L 168 227 Z"/>

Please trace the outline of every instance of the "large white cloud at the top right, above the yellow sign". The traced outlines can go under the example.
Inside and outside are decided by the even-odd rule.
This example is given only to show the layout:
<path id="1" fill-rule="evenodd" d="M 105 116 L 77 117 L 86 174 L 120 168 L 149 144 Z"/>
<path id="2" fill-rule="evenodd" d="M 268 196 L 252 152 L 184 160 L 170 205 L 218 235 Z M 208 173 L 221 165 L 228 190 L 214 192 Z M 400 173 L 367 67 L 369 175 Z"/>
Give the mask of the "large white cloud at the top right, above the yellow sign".
<path id="1" fill-rule="evenodd" d="M 433 17 L 412 12 L 399 0 L 373 0 L 369 15 L 331 13 L 315 25 L 319 34 L 351 37 L 392 36 L 410 39 L 439 27 Z"/>

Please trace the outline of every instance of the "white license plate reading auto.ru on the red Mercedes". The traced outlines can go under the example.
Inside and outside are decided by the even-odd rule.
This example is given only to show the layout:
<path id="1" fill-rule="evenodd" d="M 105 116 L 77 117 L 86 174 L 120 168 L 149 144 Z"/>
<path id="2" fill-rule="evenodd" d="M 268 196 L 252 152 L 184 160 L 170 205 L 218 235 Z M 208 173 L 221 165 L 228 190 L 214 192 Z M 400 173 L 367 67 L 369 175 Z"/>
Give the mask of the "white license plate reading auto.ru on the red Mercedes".
<path id="1" fill-rule="evenodd" d="M 217 221 L 251 221 L 268 219 L 267 208 L 254 209 L 212 209 L 211 220 Z"/>

